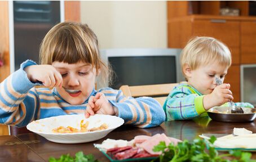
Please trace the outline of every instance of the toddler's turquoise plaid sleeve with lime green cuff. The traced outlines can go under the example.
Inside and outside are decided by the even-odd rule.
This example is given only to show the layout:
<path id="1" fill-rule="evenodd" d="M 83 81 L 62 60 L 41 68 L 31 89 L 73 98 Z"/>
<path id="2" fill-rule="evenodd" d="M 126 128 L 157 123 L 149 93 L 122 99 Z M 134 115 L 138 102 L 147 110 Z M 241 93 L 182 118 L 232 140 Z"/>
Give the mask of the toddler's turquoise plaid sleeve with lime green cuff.
<path id="1" fill-rule="evenodd" d="M 186 88 L 174 89 L 165 101 L 167 120 L 186 120 L 200 116 L 205 112 L 203 106 L 204 96 L 191 94 Z"/>

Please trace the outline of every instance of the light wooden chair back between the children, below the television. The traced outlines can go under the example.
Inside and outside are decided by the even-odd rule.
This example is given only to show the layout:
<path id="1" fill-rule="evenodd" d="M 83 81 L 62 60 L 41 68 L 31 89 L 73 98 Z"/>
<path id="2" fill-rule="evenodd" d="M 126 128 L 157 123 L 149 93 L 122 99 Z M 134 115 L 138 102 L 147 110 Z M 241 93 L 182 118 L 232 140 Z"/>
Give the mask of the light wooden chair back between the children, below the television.
<path id="1" fill-rule="evenodd" d="M 126 97 L 142 97 L 149 96 L 155 98 L 160 105 L 164 105 L 166 97 L 179 83 L 169 84 L 152 84 L 144 86 L 127 86 L 123 85 L 120 90 Z"/>

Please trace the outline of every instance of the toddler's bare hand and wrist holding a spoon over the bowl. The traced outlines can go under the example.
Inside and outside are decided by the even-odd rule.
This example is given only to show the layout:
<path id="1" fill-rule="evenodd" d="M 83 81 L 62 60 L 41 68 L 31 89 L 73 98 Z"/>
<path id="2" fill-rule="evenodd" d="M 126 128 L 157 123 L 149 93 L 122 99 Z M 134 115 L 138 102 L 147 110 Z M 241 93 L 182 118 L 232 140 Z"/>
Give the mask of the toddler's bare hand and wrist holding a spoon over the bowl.
<path id="1" fill-rule="evenodd" d="M 205 95 L 203 98 L 203 104 L 205 110 L 209 110 L 211 107 L 220 106 L 226 102 L 233 100 L 232 92 L 229 90 L 230 84 L 220 84 L 215 87 L 213 92 L 209 95 Z"/>

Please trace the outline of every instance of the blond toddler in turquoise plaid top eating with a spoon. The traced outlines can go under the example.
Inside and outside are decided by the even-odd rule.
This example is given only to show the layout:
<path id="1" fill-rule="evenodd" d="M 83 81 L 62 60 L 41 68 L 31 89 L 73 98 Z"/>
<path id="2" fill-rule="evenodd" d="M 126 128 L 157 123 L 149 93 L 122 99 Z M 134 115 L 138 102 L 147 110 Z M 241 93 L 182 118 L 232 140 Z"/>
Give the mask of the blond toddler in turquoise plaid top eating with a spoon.
<path id="1" fill-rule="evenodd" d="M 231 66 L 231 52 L 225 44 L 211 37 L 195 37 L 183 49 L 180 63 L 187 83 L 176 86 L 167 97 L 166 120 L 205 116 L 202 114 L 211 107 L 228 105 L 233 100 L 230 85 L 223 83 Z M 218 86 L 216 78 L 223 84 Z M 249 103 L 236 105 L 253 107 Z"/>

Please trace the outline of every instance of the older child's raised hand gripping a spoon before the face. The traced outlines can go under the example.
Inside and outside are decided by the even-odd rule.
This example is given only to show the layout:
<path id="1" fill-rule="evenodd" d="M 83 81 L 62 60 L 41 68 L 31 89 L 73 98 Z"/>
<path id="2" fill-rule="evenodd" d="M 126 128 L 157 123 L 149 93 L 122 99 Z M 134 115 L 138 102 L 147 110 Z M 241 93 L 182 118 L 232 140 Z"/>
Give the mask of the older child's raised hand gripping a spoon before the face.
<path id="1" fill-rule="evenodd" d="M 62 86 L 62 76 L 52 65 L 31 65 L 24 70 L 31 82 L 42 82 L 45 87 L 49 88 Z"/>

